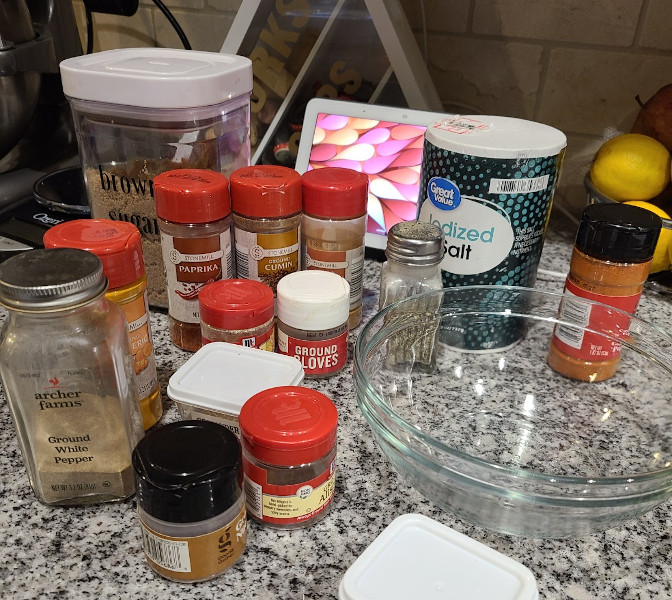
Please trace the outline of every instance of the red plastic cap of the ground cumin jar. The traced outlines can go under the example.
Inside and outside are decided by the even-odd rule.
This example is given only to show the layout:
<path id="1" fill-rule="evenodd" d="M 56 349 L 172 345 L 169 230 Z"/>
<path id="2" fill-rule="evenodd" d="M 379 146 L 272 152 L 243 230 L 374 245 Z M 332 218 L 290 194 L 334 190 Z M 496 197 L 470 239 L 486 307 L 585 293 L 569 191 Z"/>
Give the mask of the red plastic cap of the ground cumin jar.
<path id="1" fill-rule="evenodd" d="M 280 218 L 301 211 L 301 176 L 289 167 L 259 165 L 231 173 L 231 206 L 245 217 Z"/>

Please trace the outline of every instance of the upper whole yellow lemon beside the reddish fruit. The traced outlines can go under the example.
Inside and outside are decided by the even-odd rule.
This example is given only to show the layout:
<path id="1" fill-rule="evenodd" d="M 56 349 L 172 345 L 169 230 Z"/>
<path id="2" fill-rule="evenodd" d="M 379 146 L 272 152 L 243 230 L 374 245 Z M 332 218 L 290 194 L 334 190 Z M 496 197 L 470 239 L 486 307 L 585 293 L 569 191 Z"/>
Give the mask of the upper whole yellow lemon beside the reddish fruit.
<path id="1" fill-rule="evenodd" d="M 623 133 L 602 144 L 590 178 L 612 200 L 650 200 L 670 181 L 670 153 L 648 135 Z"/>

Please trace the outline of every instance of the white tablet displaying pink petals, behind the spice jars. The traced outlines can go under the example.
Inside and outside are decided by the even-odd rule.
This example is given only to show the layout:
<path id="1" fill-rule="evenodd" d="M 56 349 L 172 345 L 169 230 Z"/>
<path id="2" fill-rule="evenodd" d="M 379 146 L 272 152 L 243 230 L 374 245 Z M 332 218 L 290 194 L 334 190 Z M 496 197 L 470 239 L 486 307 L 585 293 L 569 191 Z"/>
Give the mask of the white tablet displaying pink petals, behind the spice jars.
<path id="1" fill-rule="evenodd" d="M 369 176 L 366 246 L 416 218 L 425 129 L 444 113 L 313 98 L 306 106 L 295 169 L 345 167 Z"/>

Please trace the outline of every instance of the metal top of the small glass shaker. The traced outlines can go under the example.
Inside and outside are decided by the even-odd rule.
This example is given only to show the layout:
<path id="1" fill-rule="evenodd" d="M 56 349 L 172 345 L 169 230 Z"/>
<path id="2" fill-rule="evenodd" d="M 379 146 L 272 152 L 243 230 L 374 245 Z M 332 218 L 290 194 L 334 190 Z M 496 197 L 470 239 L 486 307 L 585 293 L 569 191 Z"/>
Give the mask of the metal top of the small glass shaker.
<path id="1" fill-rule="evenodd" d="M 443 231 L 434 223 L 401 221 L 387 233 L 385 255 L 405 265 L 435 265 L 443 258 L 443 241 Z"/>

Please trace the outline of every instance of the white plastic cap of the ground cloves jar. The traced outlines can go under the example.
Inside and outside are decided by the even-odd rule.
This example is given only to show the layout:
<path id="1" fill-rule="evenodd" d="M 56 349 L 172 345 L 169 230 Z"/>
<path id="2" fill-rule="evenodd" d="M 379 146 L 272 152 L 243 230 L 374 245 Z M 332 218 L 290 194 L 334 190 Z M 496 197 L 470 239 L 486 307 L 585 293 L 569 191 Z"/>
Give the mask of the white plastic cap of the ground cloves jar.
<path id="1" fill-rule="evenodd" d="M 285 275 L 276 290 L 278 319 L 306 331 L 338 327 L 348 320 L 350 284 L 331 271 L 296 271 Z"/>

